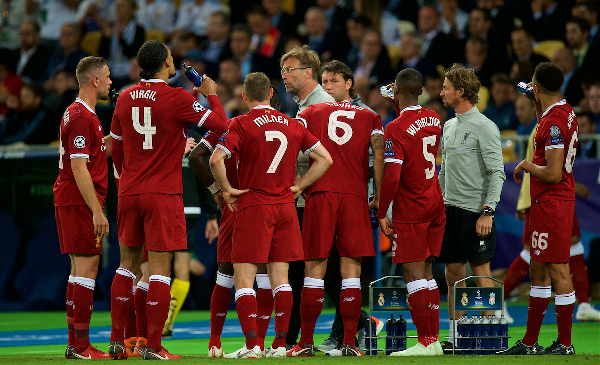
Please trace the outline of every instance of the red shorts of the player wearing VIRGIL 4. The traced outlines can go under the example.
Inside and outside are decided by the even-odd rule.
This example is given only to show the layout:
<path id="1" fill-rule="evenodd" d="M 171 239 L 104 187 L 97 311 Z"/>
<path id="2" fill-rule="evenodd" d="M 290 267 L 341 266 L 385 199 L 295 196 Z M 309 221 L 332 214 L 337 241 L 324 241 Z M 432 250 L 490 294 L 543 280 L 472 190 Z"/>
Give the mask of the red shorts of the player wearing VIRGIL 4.
<path id="1" fill-rule="evenodd" d="M 187 249 L 184 200 L 181 195 L 141 194 L 119 196 L 119 241 L 128 247 L 146 244 L 156 252 Z"/>

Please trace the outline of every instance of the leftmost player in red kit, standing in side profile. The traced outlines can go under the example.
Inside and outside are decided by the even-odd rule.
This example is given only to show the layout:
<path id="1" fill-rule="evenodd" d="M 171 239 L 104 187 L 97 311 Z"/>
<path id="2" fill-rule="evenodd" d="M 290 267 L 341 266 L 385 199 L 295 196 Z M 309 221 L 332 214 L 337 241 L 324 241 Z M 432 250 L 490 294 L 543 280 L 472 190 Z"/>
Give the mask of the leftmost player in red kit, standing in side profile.
<path id="1" fill-rule="evenodd" d="M 109 234 L 103 205 L 108 190 L 110 137 L 104 137 L 94 112 L 98 100 L 109 98 L 112 81 L 106 60 L 82 59 L 77 65 L 77 81 L 79 97 L 62 116 L 54 201 L 61 253 L 71 256 L 65 357 L 91 360 L 108 358 L 89 343 L 102 239 Z"/>

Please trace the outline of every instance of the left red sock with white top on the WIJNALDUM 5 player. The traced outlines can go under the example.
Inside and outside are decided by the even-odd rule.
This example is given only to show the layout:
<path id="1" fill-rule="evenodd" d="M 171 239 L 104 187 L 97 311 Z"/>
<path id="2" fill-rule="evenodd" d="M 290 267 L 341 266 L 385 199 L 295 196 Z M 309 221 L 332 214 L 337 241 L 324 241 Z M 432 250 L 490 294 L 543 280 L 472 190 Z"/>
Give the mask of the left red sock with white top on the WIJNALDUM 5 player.
<path id="1" fill-rule="evenodd" d="M 426 279 L 406 284 L 409 291 L 410 316 L 415 324 L 419 343 L 427 347 L 434 343 L 431 335 L 431 297 Z"/>

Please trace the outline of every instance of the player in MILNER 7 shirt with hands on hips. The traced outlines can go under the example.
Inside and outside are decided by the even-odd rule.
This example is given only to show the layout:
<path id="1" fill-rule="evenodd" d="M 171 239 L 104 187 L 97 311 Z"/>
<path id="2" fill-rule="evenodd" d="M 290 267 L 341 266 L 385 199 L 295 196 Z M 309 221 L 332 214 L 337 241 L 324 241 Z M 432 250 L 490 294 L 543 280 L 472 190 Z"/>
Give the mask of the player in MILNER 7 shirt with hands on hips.
<path id="1" fill-rule="evenodd" d="M 294 119 L 270 105 L 271 82 L 263 73 L 246 77 L 242 97 L 250 112 L 229 126 L 211 157 L 211 169 L 230 210 L 237 210 L 233 228 L 233 281 L 245 348 L 226 358 L 260 358 L 257 343 L 257 301 L 254 278 L 258 264 L 268 264 L 275 297 L 275 331 L 267 357 L 287 357 L 286 336 L 292 310 L 288 281 L 290 261 L 304 259 L 295 197 L 313 184 L 332 164 L 319 140 Z M 296 159 L 302 151 L 315 160 L 294 184 Z M 238 155 L 240 189 L 227 180 L 225 160 Z"/>

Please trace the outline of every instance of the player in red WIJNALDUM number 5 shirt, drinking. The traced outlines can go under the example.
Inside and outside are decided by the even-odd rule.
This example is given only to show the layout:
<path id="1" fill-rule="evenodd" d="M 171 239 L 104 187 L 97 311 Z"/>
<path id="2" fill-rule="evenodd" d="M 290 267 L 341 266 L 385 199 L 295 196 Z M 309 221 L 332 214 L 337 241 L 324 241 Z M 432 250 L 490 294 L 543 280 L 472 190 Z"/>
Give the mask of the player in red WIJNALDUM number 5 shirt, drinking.
<path id="1" fill-rule="evenodd" d="M 377 219 L 392 240 L 392 261 L 402 264 L 410 315 L 419 336 L 415 346 L 392 356 L 443 355 L 440 294 L 431 273 L 446 226 L 436 171 L 442 125 L 436 112 L 418 103 L 423 85 L 419 71 L 407 68 L 398 73 L 393 100 L 398 119 L 385 130 L 386 169 Z M 385 216 L 392 200 L 393 226 Z"/>

